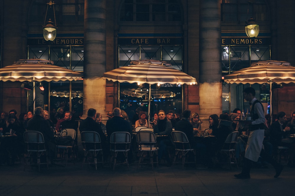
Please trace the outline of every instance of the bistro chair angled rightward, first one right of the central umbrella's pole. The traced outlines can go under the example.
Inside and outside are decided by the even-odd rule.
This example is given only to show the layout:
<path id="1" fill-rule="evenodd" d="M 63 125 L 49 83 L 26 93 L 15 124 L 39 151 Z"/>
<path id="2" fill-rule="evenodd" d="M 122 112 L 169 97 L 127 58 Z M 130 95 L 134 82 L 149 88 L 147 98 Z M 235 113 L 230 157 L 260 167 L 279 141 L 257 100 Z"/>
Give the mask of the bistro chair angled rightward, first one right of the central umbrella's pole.
<path id="1" fill-rule="evenodd" d="M 186 162 L 186 163 L 196 163 L 196 150 L 191 148 L 191 145 L 189 143 L 189 140 L 187 139 L 187 136 L 182 131 L 172 131 L 172 138 L 173 142 L 175 144 L 175 155 L 174 155 L 174 161 L 173 165 L 176 163 L 176 157 L 178 156 L 178 153 L 181 152 L 181 163 L 182 163 L 182 169 L 184 169 L 185 159 L 188 152 L 192 152 L 194 154 L 194 162 Z"/>

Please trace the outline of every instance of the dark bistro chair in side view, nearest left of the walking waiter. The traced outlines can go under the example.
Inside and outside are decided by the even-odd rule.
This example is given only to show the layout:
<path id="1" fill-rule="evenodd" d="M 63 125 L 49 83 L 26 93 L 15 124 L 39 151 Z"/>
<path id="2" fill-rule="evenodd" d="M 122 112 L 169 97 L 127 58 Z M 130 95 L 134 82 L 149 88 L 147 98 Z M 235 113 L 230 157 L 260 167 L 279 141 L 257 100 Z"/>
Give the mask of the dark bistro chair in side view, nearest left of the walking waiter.
<path id="1" fill-rule="evenodd" d="M 239 136 L 238 131 L 234 131 L 234 132 L 230 133 L 227 136 L 227 138 L 222 146 L 222 149 L 220 150 L 222 153 L 225 153 L 225 155 L 227 156 L 227 161 L 225 161 L 224 163 L 228 163 L 230 165 L 230 169 L 232 169 L 232 163 L 236 164 L 237 167 L 239 167 L 238 162 L 237 162 L 237 158 L 235 156 L 235 148 L 236 148 L 238 136 Z M 219 162 L 219 163 L 222 163 L 222 162 Z"/>

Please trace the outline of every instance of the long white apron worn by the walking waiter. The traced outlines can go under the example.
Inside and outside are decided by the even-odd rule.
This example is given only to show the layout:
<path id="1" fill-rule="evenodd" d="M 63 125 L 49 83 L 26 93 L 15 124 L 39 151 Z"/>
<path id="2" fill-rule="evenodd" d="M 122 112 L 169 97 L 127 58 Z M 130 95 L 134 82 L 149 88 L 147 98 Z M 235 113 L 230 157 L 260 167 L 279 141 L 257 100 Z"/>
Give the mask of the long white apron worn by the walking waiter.
<path id="1" fill-rule="evenodd" d="M 254 162 L 258 161 L 262 149 L 263 139 L 264 129 L 258 129 L 250 132 L 245 151 L 245 158 Z"/>

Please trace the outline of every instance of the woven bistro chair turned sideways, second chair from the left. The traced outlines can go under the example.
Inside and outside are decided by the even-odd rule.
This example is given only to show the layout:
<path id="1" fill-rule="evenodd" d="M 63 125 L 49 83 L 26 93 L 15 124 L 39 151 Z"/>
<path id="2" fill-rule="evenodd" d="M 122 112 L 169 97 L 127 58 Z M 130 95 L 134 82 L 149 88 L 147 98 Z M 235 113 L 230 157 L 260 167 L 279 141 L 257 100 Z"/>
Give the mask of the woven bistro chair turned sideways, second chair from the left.
<path id="1" fill-rule="evenodd" d="M 58 150 L 58 154 L 60 155 L 60 159 L 63 160 L 65 158 L 65 165 L 68 164 L 68 157 L 72 157 L 73 163 L 75 164 L 75 155 L 73 150 L 74 141 L 76 138 L 76 130 L 65 128 L 61 130 L 60 136 L 57 139 L 58 145 L 56 148 Z M 65 140 L 65 143 L 60 143 L 62 140 Z"/>

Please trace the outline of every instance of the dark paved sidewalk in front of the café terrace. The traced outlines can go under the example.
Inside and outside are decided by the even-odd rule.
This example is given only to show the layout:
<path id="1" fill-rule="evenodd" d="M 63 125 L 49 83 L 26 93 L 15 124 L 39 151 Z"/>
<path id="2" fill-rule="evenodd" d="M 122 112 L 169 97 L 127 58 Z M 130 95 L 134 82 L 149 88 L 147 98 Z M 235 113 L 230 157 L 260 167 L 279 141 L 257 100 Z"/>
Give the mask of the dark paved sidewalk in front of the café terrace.
<path id="1" fill-rule="evenodd" d="M 50 166 L 40 172 L 23 163 L 0 167 L 0 195 L 294 195 L 295 168 L 285 166 L 278 178 L 273 178 L 273 167 L 251 170 L 251 179 L 233 177 L 241 168 L 196 169 L 181 165 L 160 165 L 154 171 L 148 165 L 136 169 L 130 166 L 109 165 L 81 169 L 81 162 L 67 167 Z"/>

